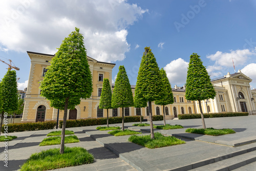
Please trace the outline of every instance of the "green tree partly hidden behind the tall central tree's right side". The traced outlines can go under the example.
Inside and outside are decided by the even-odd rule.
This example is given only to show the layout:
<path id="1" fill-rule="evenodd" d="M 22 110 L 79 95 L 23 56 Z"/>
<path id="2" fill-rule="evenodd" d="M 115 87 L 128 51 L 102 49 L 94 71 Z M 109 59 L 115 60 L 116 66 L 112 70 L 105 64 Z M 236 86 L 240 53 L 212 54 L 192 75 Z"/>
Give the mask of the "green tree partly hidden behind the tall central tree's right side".
<path id="1" fill-rule="evenodd" d="M 162 76 L 162 80 L 163 80 L 163 84 L 164 84 L 164 93 L 166 94 L 166 96 L 164 96 L 160 100 L 156 100 L 155 104 L 163 105 L 163 124 L 165 125 L 166 123 L 165 123 L 164 105 L 173 104 L 174 103 L 174 95 L 172 92 L 172 88 L 170 87 L 170 82 L 167 78 L 166 72 L 163 68 L 160 70 L 160 73 Z"/>

